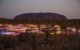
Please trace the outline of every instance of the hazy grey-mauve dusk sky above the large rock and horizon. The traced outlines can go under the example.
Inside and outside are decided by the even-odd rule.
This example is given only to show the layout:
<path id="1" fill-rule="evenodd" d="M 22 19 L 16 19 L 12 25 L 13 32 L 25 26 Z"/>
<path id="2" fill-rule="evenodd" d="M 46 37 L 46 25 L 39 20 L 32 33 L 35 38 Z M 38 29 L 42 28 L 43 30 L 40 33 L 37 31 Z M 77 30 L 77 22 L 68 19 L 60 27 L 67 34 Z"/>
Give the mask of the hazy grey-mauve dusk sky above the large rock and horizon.
<path id="1" fill-rule="evenodd" d="M 80 0 L 0 0 L 0 18 L 13 19 L 19 14 L 40 12 L 80 19 Z"/>

